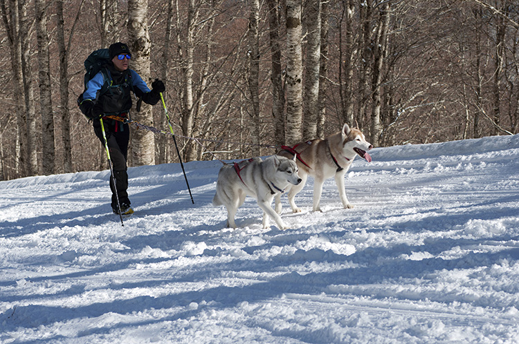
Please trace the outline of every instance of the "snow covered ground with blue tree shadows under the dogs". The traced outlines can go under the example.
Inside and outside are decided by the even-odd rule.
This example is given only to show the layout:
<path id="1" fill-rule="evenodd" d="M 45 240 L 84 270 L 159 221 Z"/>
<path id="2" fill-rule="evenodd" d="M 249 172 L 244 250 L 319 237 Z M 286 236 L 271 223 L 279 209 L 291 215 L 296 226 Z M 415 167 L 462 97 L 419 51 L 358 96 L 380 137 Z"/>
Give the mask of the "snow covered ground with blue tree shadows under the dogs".
<path id="1" fill-rule="evenodd" d="M 221 163 L 0 182 L 0 343 L 519 343 L 519 135 L 374 149 L 261 228 Z"/>

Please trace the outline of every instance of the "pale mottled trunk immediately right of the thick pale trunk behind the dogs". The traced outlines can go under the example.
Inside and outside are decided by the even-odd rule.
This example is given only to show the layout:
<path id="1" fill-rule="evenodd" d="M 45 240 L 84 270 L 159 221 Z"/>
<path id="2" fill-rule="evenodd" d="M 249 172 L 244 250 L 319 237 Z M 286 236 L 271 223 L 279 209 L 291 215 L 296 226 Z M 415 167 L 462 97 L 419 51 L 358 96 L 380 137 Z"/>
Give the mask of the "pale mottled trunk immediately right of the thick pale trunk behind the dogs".
<path id="1" fill-rule="evenodd" d="M 304 75 L 304 125 L 303 138 L 314 139 L 317 137 L 318 102 L 319 102 L 319 72 L 321 55 L 321 1 L 309 0 L 304 11 L 307 27 L 307 57 L 304 60 L 306 66 Z"/>

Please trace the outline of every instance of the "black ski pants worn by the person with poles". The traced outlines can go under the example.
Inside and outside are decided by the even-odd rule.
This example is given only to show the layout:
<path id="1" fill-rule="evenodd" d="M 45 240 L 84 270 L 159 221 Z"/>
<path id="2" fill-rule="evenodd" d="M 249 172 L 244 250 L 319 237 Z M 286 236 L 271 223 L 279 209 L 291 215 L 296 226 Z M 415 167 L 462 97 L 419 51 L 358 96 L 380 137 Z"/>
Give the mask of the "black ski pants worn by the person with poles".
<path id="1" fill-rule="evenodd" d="M 110 177 L 111 189 L 111 207 L 117 209 L 117 195 L 119 196 L 120 204 L 130 204 L 128 198 L 128 173 L 127 173 L 127 156 L 128 156 L 128 142 L 129 142 L 129 125 L 116 120 L 103 120 L 104 133 L 107 136 L 108 151 L 113 166 L 113 176 L 116 179 L 116 185 Z M 99 137 L 104 149 L 104 138 L 102 137 L 101 123 L 99 120 L 93 121 L 93 130 L 95 135 Z"/>

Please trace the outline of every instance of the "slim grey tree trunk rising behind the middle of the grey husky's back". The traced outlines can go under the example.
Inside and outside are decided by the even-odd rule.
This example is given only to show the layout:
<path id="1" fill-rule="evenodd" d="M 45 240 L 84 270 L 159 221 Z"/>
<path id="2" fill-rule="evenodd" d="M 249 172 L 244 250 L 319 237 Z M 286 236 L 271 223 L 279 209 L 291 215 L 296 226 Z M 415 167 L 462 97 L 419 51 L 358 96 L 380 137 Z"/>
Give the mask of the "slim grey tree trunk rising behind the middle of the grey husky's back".
<path id="1" fill-rule="evenodd" d="M 251 92 L 251 143 L 252 155 L 260 156 L 260 35 L 257 31 L 260 21 L 260 0 L 249 0 L 248 17 L 248 88 Z"/>

